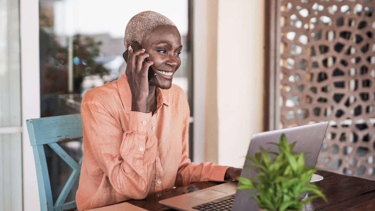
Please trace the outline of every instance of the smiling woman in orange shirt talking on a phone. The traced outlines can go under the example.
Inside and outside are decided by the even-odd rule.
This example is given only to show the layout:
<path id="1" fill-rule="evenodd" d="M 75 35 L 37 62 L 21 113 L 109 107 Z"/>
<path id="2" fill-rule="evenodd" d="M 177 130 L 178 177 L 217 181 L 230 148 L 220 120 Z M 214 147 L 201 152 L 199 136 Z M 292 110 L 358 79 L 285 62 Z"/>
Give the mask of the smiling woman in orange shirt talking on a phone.
<path id="1" fill-rule="evenodd" d="M 133 42 L 143 49 L 133 51 Z M 182 49 L 172 21 L 141 12 L 127 24 L 124 44 L 129 51 L 125 74 L 89 90 L 82 100 L 78 209 L 143 199 L 192 182 L 237 179 L 241 169 L 190 162 L 189 105 L 183 90 L 172 84 Z M 151 65 L 156 76 L 149 82 Z"/>

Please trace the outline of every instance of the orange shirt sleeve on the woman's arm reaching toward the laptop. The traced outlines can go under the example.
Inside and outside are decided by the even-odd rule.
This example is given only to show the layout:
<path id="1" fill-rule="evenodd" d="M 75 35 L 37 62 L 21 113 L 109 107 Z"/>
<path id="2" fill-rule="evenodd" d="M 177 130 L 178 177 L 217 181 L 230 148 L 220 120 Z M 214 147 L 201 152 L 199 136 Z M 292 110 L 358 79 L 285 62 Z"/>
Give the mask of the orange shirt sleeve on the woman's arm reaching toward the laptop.
<path id="1" fill-rule="evenodd" d="M 193 163 L 189 159 L 189 104 L 183 102 L 182 155 L 178 167 L 175 186 L 183 186 L 199 181 L 225 181 L 224 176 L 229 166 L 219 166 L 211 162 Z"/>

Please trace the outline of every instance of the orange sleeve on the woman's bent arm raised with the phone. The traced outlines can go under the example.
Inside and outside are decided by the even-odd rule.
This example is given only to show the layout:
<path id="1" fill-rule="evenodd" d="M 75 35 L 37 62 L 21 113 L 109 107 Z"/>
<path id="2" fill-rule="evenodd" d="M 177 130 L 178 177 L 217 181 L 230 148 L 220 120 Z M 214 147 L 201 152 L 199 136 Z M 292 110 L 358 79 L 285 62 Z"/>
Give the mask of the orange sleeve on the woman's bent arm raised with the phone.
<path id="1" fill-rule="evenodd" d="M 156 143 L 147 141 L 151 112 L 130 112 L 129 130 L 123 132 L 103 104 L 81 106 L 86 147 L 108 177 L 114 189 L 129 198 L 142 199 L 149 185 L 147 166 L 155 161 Z"/>

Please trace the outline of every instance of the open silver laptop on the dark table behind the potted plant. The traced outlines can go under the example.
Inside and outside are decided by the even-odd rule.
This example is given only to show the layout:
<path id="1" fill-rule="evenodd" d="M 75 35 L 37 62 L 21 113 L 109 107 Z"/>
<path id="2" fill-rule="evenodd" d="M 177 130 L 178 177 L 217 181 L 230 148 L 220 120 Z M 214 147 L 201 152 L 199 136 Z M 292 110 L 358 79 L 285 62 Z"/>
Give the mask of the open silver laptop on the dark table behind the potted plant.
<path id="1" fill-rule="evenodd" d="M 321 122 L 255 134 L 251 138 L 247 155 L 254 156 L 256 152 L 260 151 L 261 146 L 265 149 L 270 149 L 271 151 L 278 151 L 277 146 L 268 143 L 279 142 L 281 134 L 284 133 L 285 136 L 287 136 L 289 143 L 297 141 L 294 151 L 309 152 L 305 157 L 305 164 L 308 166 L 315 166 L 327 127 L 328 122 Z M 249 159 L 246 159 L 244 166 L 247 166 L 250 162 Z M 249 169 L 245 167 L 242 170 L 241 176 L 248 177 Z M 236 190 L 236 188 L 236 181 L 226 182 L 190 194 L 183 194 L 169 199 L 160 200 L 159 203 L 181 211 L 257 211 L 258 203 L 250 197 L 248 190 Z"/>

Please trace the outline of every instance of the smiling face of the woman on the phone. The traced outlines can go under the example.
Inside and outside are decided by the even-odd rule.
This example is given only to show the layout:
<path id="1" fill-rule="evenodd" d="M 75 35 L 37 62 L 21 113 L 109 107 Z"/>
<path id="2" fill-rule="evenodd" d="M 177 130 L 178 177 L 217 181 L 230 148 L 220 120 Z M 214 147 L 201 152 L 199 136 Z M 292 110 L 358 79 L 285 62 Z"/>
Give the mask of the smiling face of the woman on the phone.
<path id="1" fill-rule="evenodd" d="M 182 50 L 180 32 L 175 26 L 159 26 L 142 39 L 142 48 L 150 54 L 147 58 L 153 61 L 156 77 L 150 85 L 169 89 L 172 86 L 173 74 L 181 65 Z"/>

